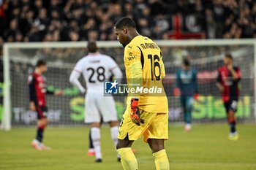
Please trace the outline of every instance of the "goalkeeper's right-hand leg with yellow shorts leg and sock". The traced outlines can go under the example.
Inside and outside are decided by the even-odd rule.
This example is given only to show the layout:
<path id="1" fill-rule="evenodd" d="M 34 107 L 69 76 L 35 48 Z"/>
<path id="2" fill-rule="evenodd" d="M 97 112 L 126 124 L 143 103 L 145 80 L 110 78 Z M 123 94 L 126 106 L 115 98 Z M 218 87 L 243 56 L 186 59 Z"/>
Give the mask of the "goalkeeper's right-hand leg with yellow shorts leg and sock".
<path id="1" fill-rule="evenodd" d="M 157 170 L 169 170 L 164 144 L 164 141 L 168 139 L 168 114 L 157 114 L 143 136 L 144 142 L 148 142 L 152 150 Z"/>

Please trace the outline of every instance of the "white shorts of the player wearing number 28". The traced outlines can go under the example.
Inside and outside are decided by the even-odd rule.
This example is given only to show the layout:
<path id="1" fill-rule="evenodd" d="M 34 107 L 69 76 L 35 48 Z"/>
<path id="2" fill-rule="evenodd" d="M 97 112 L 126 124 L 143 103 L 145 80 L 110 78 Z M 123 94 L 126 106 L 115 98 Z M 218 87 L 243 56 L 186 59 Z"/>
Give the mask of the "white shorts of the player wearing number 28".
<path id="1" fill-rule="evenodd" d="M 108 123 L 117 121 L 116 105 L 113 96 L 103 96 L 102 93 L 86 94 L 85 123 Z"/>

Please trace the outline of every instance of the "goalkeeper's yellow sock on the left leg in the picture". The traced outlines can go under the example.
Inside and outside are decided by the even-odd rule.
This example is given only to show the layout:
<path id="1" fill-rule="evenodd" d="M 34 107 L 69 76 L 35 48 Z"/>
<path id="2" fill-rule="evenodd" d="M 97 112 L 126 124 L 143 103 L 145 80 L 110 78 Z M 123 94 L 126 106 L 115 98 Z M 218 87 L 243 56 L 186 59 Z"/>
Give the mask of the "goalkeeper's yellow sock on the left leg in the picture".
<path id="1" fill-rule="evenodd" d="M 124 170 L 138 170 L 138 163 L 131 147 L 123 147 L 117 152 L 121 156 L 121 164 Z"/>

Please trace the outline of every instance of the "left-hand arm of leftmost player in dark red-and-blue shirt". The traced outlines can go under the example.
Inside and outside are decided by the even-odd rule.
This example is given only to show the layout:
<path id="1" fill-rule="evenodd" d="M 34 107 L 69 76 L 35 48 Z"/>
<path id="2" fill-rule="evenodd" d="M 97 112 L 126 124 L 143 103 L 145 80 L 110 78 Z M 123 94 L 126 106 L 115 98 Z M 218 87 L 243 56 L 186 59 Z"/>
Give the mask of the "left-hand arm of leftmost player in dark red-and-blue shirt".
<path id="1" fill-rule="evenodd" d="M 32 111 L 36 110 L 36 90 L 35 90 L 35 79 L 32 75 L 29 76 L 29 109 Z"/>

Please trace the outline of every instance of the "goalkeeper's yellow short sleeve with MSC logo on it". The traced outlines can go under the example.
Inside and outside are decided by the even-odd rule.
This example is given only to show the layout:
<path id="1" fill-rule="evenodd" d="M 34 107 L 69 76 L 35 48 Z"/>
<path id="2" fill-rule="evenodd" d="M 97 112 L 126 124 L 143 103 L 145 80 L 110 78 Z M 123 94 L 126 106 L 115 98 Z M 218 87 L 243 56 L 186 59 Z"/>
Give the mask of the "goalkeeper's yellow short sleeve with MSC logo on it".
<path id="1" fill-rule="evenodd" d="M 137 46 L 127 46 L 124 50 L 124 62 L 129 66 L 140 63 L 140 49 Z"/>

